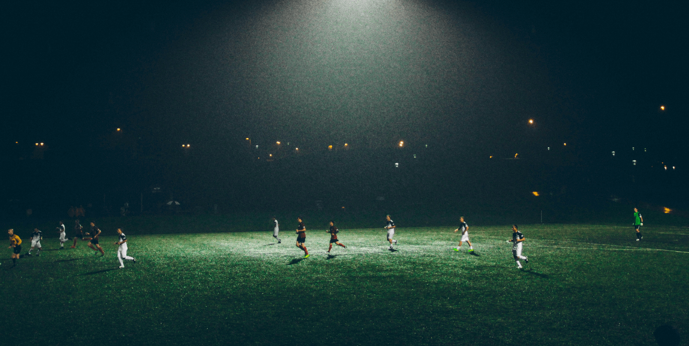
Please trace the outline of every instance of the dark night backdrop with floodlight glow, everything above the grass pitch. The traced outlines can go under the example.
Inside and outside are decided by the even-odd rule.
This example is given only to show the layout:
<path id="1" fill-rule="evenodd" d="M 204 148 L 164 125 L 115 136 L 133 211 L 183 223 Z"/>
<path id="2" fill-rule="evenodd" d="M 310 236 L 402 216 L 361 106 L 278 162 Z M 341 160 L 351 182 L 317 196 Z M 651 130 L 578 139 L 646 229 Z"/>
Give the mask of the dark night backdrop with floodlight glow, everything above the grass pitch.
<path id="1" fill-rule="evenodd" d="M 116 215 L 130 202 L 132 213 L 432 215 L 617 197 L 686 208 L 682 12 L 657 1 L 12 3 L 2 213 Z"/>

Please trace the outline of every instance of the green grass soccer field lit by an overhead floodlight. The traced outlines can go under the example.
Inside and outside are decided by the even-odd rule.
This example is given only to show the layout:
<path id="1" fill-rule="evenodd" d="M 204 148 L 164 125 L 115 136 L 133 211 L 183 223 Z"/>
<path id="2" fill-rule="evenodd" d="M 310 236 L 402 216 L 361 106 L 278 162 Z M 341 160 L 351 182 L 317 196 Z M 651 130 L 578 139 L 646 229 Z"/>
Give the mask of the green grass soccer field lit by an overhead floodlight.
<path id="1" fill-rule="evenodd" d="M 453 228 L 341 229 L 347 250 L 309 230 L 134 235 L 118 269 L 105 256 L 55 250 L 0 277 L 3 345 L 656 345 L 671 323 L 689 330 L 689 228 L 471 226 L 476 255 Z M 30 241 L 23 239 L 23 253 Z M 522 262 L 522 264 L 524 264 Z"/>

